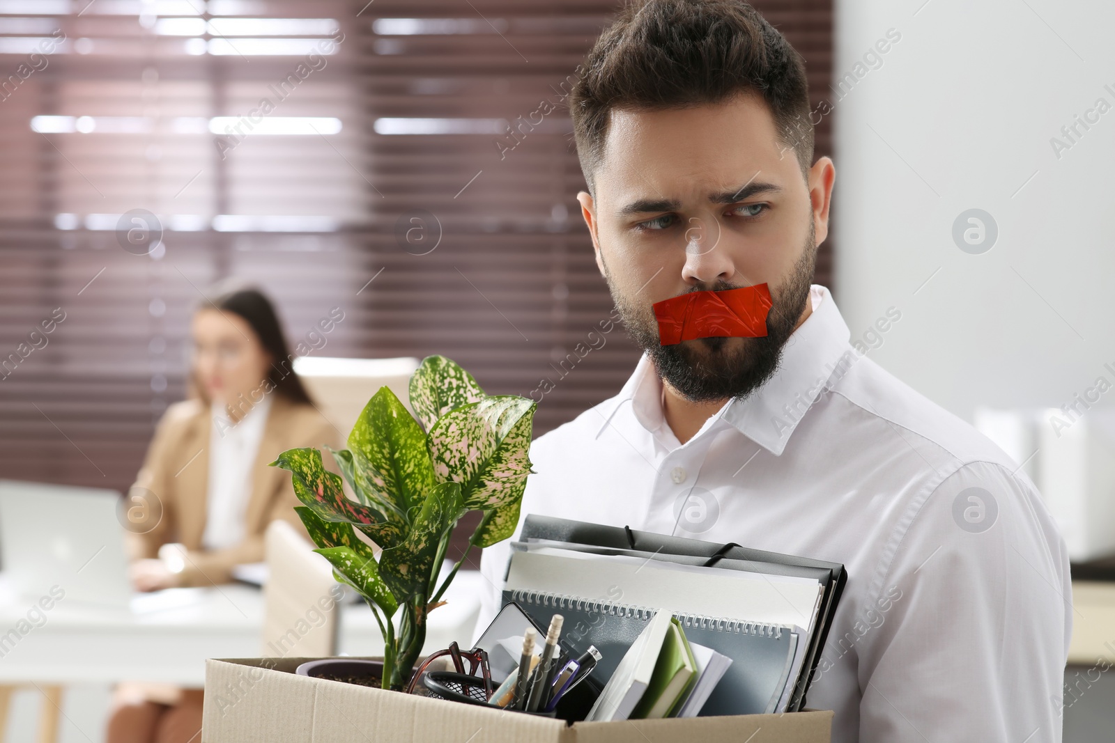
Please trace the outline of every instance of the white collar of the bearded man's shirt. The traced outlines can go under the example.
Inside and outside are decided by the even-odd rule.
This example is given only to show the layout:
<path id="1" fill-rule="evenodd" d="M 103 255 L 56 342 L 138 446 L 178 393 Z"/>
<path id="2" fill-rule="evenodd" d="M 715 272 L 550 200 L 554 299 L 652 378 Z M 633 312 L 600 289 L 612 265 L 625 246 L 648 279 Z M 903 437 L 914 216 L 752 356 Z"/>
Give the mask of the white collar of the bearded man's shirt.
<path id="1" fill-rule="evenodd" d="M 824 286 L 813 285 L 809 299 L 813 312 L 783 346 L 775 375 L 744 400 L 729 401 L 714 416 L 776 456 L 785 450 L 797 423 L 828 380 L 837 370 L 846 371 L 849 362 L 851 333 L 832 294 Z M 620 393 L 603 403 L 598 438 L 627 402 L 648 431 L 657 431 L 665 422 L 661 381 L 647 354 Z"/>

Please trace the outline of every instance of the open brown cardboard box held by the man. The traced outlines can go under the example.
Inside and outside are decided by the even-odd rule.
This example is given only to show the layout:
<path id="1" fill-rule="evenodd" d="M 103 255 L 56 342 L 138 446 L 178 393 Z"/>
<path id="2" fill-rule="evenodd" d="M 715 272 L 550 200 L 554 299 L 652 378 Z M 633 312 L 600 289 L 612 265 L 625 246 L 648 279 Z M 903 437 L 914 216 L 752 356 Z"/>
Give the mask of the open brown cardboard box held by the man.
<path id="1" fill-rule="evenodd" d="M 202 743 L 830 743 L 831 711 L 568 725 L 294 675 L 313 658 L 206 661 Z"/>

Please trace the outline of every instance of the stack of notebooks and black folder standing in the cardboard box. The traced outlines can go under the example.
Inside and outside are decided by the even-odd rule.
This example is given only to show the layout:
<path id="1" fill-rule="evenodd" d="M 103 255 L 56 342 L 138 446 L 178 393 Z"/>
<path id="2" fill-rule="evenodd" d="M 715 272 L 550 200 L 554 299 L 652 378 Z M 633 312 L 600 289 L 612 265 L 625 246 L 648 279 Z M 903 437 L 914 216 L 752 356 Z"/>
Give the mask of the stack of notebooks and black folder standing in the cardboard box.
<path id="1" fill-rule="evenodd" d="M 565 642 L 603 654 L 590 720 L 804 706 L 842 565 L 539 516 L 520 538 L 504 603 L 561 612 Z"/>

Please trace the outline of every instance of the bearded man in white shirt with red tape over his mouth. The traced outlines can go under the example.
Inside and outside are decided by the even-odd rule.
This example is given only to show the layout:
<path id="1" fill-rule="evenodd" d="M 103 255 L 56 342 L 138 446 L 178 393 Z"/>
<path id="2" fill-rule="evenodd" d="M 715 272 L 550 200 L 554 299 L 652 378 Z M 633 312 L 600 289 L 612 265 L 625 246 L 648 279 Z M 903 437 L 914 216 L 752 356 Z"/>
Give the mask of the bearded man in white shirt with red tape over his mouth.
<path id="1" fill-rule="evenodd" d="M 534 442 L 522 514 L 843 563 L 807 697 L 834 742 L 1059 741 L 1064 542 L 1018 466 L 854 350 L 809 285 L 835 172 L 801 58 L 741 0 L 647 0 L 585 68 L 579 199 L 646 354 Z M 762 284 L 766 335 L 661 345 L 653 303 Z M 481 627 L 508 549 L 484 555 Z"/>

